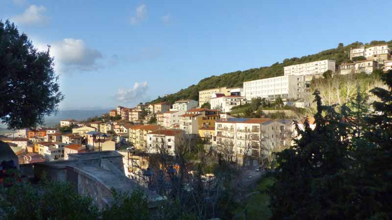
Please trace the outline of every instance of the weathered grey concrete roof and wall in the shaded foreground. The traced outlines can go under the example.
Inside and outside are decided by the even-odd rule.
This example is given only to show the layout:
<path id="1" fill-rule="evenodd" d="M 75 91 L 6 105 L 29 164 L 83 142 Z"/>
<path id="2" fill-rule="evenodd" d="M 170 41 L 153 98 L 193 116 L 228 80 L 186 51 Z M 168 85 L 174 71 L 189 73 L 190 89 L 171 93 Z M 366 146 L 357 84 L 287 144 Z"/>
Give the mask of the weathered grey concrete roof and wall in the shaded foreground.
<path id="1" fill-rule="evenodd" d="M 99 209 L 113 201 L 111 189 L 120 195 L 140 189 L 148 200 L 148 208 L 155 209 L 162 197 L 124 175 L 123 156 L 115 151 L 70 154 L 69 160 L 24 164 L 22 175 L 40 178 L 48 174 L 50 180 L 68 181 L 77 192 L 87 195 Z"/>

